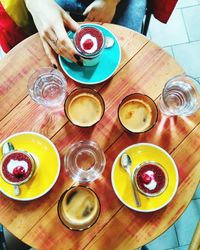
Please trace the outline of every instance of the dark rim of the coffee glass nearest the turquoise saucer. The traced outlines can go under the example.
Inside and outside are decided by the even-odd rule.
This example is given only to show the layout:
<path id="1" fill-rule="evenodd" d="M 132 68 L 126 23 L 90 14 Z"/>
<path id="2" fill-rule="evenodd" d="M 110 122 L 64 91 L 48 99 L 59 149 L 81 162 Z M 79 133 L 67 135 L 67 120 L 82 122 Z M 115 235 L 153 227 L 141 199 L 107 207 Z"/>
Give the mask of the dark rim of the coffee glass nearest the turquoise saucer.
<path id="1" fill-rule="evenodd" d="M 92 125 L 81 126 L 81 125 L 75 124 L 75 123 L 73 123 L 73 121 L 69 118 L 69 116 L 68 116 L 68 114 L 67 114 L 67 110 L 66 110 L 66 108 L 65 108 L 65 107 L 66 107 L 66 104 L 67 104 L 67 101 L 69 100 L 70 96 L 71 96 L 73 93 L 75 93 L 76 91 L 79 91 L 79 90 L 86 90 L 86 91 L 89 90 L 89 91 L 93 92 L 94 95 L 97 95 L 97 96 L 101 99 L 101 102 L 102 102 L 102 104 L 103 104 L 103 107 L 102 107 L 102 115 L 101 115 L 101 117 L 99 118 L 98 121 L 96 121 L 96 122 L 93 123 Z M 84 93 L 84 92 L 82 92 L 82 93 Z M 85 92 L 85 93 L 87 93 L 87 92 Z M 101 106 L 102 106 L 102 105 L 101 105 Z M 65 101 L 64 101 L 64 112 L 65 112 L 65 115 L 66 115 L 67 119 L 68 119 L 74 126 L 77 126 L 77 127 L 79 127 L 79 128 L 90 128 L 90 127 L 95 126 L 95 125 L 102 119 L 102 117 L 104 116 L 104 113 L 105 113 L 105 101 L 104 101 L 102 95 L 101 95 L 98 91 L 96 91 L 95 89 L 88 88 L 88 87 L 79 87 L 79 88 L 76 88 L 76 89 L 72 90 L 72 91 L 66 96 Z"/>

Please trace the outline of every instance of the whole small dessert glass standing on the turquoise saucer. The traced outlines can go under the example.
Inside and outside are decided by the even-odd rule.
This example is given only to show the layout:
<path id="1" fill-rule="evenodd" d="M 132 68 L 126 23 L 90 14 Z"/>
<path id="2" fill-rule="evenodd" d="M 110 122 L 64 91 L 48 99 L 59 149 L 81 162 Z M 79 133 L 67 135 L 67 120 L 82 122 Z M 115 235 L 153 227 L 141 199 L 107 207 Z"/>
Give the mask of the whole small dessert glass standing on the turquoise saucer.
<path id="1" fill-rule="evenodd" d="M 105 37 L 100 29 L 89 24 L 81 25 L 74 34 L 73 43 L 84 66 L 99 63 L 105 45 Z"/>

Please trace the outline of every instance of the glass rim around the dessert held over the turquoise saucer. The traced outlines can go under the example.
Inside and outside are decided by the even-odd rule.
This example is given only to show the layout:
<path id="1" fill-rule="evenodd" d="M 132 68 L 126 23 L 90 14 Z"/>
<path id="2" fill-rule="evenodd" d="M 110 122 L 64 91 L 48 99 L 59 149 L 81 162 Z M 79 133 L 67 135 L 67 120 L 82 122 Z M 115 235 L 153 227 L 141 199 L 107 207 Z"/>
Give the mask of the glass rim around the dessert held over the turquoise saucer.
<path id="1" fill-rule="evenodd" d="M 103 38 L 103 43 L 102 43 L 102 46 L 101 48 L 94 52 L 94 53 L 87 53 L 87 52 L 83 52 L 82 50 L 80 50 L 78 47 L 77 47 L 77 44 L 76 44 L 76 36 L 77 36 L 77 32 L 80 32 L 81 30 L 83 30 L 84 28 L 92 28 L 92 29 L 95 29 L 97 30 L 101 35 L 102 35 L 102 38 Z M 80 53 L 81 56 L 85 56 L 86 59 L 88 58 L 93 58 L 93 57 L 97 57 L 101 52 L 102 50 L 104 49 L 105 47 L 105 37 L 104 37 L 104 34 L 103 32 L 100 30 L 100 29 L 97 29 L 96 27 L 94 27 L 93 25 L 90 25 L 90 24 L 82 24 L 80 25 L 80 28 L 74 33 L 74 37 L 73 37 L 73 43 L 74 43 L 74 46 L 76 48 L 76 50 Z"/>

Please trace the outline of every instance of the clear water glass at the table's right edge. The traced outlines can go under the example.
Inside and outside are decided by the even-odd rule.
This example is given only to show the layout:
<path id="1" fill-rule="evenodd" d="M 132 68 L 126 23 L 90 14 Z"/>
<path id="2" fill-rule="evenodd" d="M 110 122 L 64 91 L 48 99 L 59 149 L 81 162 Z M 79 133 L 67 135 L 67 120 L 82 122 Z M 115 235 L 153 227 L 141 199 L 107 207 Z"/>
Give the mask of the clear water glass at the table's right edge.
<path id="1" fill-rule="evenodd" d="M 158 102 L 160 111 L 167 116 L 189 116 L 200 108 L 200 83 L 187 75 L 169 80 Z"/>

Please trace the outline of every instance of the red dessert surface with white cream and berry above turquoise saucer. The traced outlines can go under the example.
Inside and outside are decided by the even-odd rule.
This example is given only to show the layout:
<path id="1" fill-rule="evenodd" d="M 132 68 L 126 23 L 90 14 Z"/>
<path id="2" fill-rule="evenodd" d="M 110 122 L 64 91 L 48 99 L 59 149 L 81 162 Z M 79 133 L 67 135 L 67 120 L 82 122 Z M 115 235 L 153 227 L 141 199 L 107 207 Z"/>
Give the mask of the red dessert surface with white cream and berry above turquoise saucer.
<path id="1" fill-rule="evenodd" d="M 80 54 L 92 56 L 98 54 L 104 46 L 102 32 L 92 26 L 82 26 L 75 33 L 74 43 Z"/>

